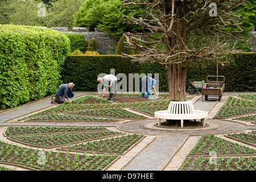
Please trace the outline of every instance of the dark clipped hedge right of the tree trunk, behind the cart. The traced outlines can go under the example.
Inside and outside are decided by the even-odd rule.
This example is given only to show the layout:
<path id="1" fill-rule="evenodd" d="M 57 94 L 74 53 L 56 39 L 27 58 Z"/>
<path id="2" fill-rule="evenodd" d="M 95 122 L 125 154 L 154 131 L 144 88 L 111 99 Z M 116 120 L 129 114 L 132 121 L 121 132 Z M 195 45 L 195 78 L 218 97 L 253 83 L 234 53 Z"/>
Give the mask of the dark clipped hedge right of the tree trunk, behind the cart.
<path id="1" fill-rule="evenodd" d="M 225 77 L 227 92 L 255 92 L 256 91 L 256 53 L 235 53 L 234 63 L 218 64 L 218 76 Z M 217 75 L 217 64 L 193 64 L 187 68 L 187 86 L 189 80 L 202 81 L 207 76 Z M 219 80 L 221 81 L 221 80 Z M 191 86 L 191 85 L 190 85 Z"/>

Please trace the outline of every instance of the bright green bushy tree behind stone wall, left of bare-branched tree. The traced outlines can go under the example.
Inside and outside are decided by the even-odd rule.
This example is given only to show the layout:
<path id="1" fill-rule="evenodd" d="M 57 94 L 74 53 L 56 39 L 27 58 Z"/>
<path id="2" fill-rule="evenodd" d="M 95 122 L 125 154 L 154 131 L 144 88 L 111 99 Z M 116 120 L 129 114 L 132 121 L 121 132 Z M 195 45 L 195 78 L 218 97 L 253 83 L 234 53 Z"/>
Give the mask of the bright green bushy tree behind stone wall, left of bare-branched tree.
<path id="1" fill-rule="evenodd" d="M 140 6 L 122 7 L 121 2 L 122 0 L 86 0 L 75 15 L 74 26 L 90 27 L 91 30 L 99 27 L 114 37 L 121 37 L 133 28 L 138 29 L 137 26 L 123 24 L 125 19 L 122 15 L 139 18 L 143 14 L 139 10 Z"/>

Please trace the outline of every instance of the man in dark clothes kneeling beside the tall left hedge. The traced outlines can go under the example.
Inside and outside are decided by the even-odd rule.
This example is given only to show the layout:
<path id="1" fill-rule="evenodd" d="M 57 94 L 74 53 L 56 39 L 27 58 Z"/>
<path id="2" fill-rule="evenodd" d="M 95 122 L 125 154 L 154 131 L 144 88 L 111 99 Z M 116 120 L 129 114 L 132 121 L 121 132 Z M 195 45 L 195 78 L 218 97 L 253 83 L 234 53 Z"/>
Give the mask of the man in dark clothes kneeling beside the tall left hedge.
<path id="1" fill-rule="evenodd" d="M 55 93 L 55 97 L 53 97 L 51 100 L 51 104 L 54 104 L 55 102 L 57 102 L 58 104 L 62 104 L 66 101 L 65 98 L 67 98 L 67 100 L 71 102 L 70 98 L 74 96 L 73 92 L 71 91 L 73 86 L 74 84 L 72 82 L 59 86 L 59 89 Z"/>

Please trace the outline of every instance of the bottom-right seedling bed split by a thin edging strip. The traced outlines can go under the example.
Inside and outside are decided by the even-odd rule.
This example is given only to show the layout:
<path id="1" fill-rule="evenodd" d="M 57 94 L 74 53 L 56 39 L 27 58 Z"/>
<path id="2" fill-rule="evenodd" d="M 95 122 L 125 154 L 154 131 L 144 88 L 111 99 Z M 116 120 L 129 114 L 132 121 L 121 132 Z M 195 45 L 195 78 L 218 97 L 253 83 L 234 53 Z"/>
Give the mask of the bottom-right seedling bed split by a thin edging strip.
<path id="1" fill-rule="evenodd" d="M 237 135 L 237 134 L 229 134 Z M 255 138 L 255 135 L 251 135 Z M 214 134 L 202 135 L 185 159 L 180 171 L 243 171 L 256 169 L 253 148 L 219 138 Z M 230 155 L 233 155 L 230 157 Z"/>

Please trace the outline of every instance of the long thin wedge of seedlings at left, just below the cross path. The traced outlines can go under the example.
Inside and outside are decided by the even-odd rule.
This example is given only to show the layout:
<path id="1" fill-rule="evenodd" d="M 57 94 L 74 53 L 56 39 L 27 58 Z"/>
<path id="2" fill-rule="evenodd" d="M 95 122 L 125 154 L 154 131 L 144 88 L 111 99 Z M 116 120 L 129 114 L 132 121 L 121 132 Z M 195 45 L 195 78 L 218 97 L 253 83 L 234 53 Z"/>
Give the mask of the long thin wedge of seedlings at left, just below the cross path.
<path id="1" fill-rule="evenodd" d="M 76 131 L 100 131 L 107 130 L 105 126 L 8 126 L 5 135 L 27 135 L 43 133 L 61 133 Z"/>

